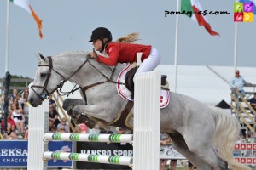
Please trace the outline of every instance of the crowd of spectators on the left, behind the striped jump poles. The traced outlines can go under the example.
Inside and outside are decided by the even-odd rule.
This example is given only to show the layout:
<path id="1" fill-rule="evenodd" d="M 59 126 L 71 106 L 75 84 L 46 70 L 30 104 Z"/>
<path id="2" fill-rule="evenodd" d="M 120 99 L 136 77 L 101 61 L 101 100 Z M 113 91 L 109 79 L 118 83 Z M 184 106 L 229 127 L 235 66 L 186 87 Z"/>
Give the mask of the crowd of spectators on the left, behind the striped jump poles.
<path id="1" fill-rule="evenodd" d="M 18 92 L 14 88 L 13 93 L 9 94 L 9 114 L 7 116 L 6 129 L 2 123 L 0 139 L 28 139 L 28 118 L 29 103 L 27 102 L 29 90 L 26 88 Z M 4 94 L 0 98 L 1 118 L 4 120 Z M 73 133 L 69 126 L 69 122 L 65 117 L 61 117 L 57 111 L 57 105 L 52 96 L 49 96 L 49 132 L 51 133 Z M 4 121 L 3 121 L 4 122 Z M 102 133 L 100 131 L 89 131 L 84 123 L 75 125 L 74 133 Z M 114 131 L 114 130 L 113 130 Z M 124 128 L 116 129 L 114 133 L 124 133 Z M 126 131 L 126 133 L 129 131 Z"/>

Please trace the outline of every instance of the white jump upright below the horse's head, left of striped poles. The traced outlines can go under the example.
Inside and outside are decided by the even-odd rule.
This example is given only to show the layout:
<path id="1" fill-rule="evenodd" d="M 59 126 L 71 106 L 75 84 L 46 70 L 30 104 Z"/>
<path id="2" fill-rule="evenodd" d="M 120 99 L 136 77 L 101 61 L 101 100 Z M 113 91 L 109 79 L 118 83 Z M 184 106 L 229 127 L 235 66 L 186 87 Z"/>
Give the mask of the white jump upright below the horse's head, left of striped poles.
<path id="1" fill-rule="evenodd" d="M 48 162 L 43 161 L 42 158 L 44 151 L 48 150 L 43 141 L 44 133 L 48 132 L 48 116 L 48 100 L 38 107 L 29 106 L 27 169 L 47 169 Z"/>

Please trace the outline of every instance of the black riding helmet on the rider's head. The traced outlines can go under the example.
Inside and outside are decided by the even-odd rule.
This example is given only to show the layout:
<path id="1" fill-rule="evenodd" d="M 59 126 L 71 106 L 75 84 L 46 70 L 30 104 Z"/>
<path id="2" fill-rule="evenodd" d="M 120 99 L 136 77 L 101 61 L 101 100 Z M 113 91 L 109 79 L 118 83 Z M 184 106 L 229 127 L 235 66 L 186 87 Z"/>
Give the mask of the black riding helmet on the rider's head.
<path id="1" fill-rule="evenodd" d="M 107 28 L 98 27 L 92 31 L 89 42 L 93 42 L 97 39 L 101 39 L 103 41 L 103 38 L 108 38 L 108 42 L 111 42 L 112 34 Z"/>

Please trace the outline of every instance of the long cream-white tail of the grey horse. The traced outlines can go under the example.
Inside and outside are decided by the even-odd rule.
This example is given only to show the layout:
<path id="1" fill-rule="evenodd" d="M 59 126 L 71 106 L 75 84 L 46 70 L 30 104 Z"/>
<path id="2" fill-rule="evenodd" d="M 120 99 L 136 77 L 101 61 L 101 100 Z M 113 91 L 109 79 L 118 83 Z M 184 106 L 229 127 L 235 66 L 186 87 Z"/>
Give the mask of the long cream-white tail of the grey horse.
<path id="1" fill-rule="evenodd" d="M 233 170 L 249 170 L 249 167 L 237 162 L 233 156 L 236 137 L 240 133 L 240 124 L 234 116 L 219 108 L 212 108 L 215 120 L 214 147 L 218 156 L 227 161 Z"/>

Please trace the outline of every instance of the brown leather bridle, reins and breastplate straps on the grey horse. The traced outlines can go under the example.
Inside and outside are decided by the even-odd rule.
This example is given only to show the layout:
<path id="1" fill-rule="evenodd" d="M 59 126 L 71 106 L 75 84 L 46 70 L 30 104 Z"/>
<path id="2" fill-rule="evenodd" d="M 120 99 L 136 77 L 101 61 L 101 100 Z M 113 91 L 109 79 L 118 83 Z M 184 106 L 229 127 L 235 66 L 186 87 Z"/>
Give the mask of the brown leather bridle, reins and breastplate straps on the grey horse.
<path id="1" fill-rule="evenodd" d="M 85 91 L 86 91 L 87 89 L 92 88 L 92 87 L 94 87 L 94 86 L 96 86 L 96 85 L 105 83 L 105 82 L 113 82 L 113 83 L 118 83 L 118 84 L 123 84 L 123 85 L 125 85 L 125 83 L 113 81 L 113 74 L 114 74 L 114 71 L 115 71 L 115 69 L 116 69 L 116 65 L 113 67 L 113 70 L 112 70 L 108 65 L 106 65 L 106 66 L 108 67 L 108 69 L 111 71 L 111 76 L 108 78 L 108 77 L 107 77 L 106 75 L 104 75 L 101 71 L 99 71 L 99 70 L 96 68 L 96 66 L 94 66 L 94 65 L 92 65 L 92 64 L 90 63 L 90 59 L 91 59 L 90 55 L 87 55 L 87 59 L 84 60 L 84 63 L 83 63 L 82 65 L 80 65 L 79 68 L 78 68 L 76 71 L 74 71 L 73 74 L 71 74 L 71 75 L 70 75 L 69 77 L 67 77 L 66 79 L 65 79 L 65 77 L 63 77 L 63 76 L 61 75 L 61 73 L 59 73 L 58 71 L 56 71 L 56 70 L 53 68 L 52 58 L 51 58 L 50 56 L 47 57 L 47 58 L 49 59 L 49 65 L 38 65 L 38 67 L 39 67 L 39 66 L 48 66 L 48 67 L 49 67 L 49 72 L 47 73 L 47 77 L 46 77 L 46 80 L 45 80 L 45 82 L 44 82 L 44 86 L 38 86 L 38 85 L 32 85 L 32 86 L 31 86 L 32 91 L 33 91 L 33 92 L 38 96 L 38 98 L 41 99 L 42 101 L 44 101 L 44 99 L 47 99 L 47 97 L 48 97 L 49 95 L 53 94 L 53 93 L 55 92 L 55 90 L 57 90 L 57 93 L 58 93 L 58 94 L 60 94 L 60 92 L 61 92 L 63 95 L 67 95 L 67 96 L 68 96 L 69 94 L 73 94 L 74 91 L 76 91 L 76 90 L 78 90 L 78 89 L 80 88 L 80 89 L 84 92 L 84 93 L 83 93 L 83 95 L 84 95 L 84 103 L 85 103 L 85 105 L 87 105 L 87 97 L 86 97 L 86 94 L 85 94 Z M 62 89 L 64 83 L 67 82 L 71 77 L 73 77 L 73 75 L 76 74 L 87 62 L 88 62 L 93 68 L 95 68 L 96 71 L 98 71 L 99 73 L 101 73 L 102 76 L 105 77 L 107 80 L 106 80 L 106 81 L 102 81 L 102 82 L 95 82 L 95 83 L 92 83 L 92 84 L 90 84 L 90 85 L 88 85 L 88 86 L 85 86 L 85 87 L 83 87 L 83 88 L 81 88 L 81 87 L 75 88 L 75 87 L 74 87 L 70 92 L 62 92 L 61 89 Z M 104 65 L 105 65 L 105 64 L 104 64 Z M 49 91 L 47 90 L 47 86 L 48 86 L 48 83 L 49 83 L 49 78 L 50 78 L 50 76 L 51 76 L 51 71 L 55 71 L 58 75 L 60 75 L 60 76 L 63 78 L 63 81 L 60 82 L 60 84 L 58 84 L 58 85 L 56 86 L 56 88 L 54 88 L 51 92 L 49 92 Z M 76 85 L 75 85 L 75 86 L 76 86 Z M 42 88 L 43 91 L 42 91 L 41 95 L 38 94 L 38 92 L 36 92 L 36 90 L 35 90 L 34 88 Z M 60 92 L 58 91 L 58 88 L 60 88 Z M 61 95 L 61 94 L 60 94 L 60 95 Z"/>

